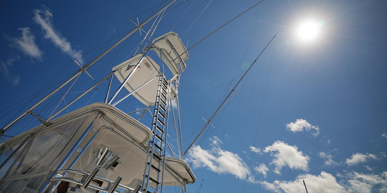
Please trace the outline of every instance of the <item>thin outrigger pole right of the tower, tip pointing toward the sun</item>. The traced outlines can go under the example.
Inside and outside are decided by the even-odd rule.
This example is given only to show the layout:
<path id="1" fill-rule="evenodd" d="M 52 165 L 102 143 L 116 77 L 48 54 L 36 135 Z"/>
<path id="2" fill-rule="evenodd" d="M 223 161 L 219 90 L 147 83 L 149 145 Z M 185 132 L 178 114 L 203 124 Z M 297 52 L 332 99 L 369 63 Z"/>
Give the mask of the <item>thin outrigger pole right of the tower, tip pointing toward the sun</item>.
<path id="1" fill-rule="evenodd" d="M 228 93 L 227 97 L 223 100 L 223 102 L 219 105 L 219 107 L 217 108 L 217 110 L 214 112 L 214 114 L 211 116 L 211 118 L 207 121 L 207 123 L 203 126 L 202 130 L 200 130 L 199 134 L 196 136 L 196 138 L 194 139 L 194 141 L 192 141 L 192 143 L 190 144 L 190 146 L 188 146 L 188 148 L 185 150 L 183 156 L 185 156 L 185 154 L 188 152 L 188 150 L 191 148 L 191 146 L 195 143 L 195 141 L 199 138 L 199 136 L 202 134 L 202 132 L 205 130 L 205 128 L 207 128 L 208 125 L 211 125 L 211 121 L 212 119 L 214 119 L 217 115 L 217 113 L 219 112 L 219 110 L 223 107 L 224 103 L 226 103 L 226 101 L 228 100 L 228 98 L 231 97 L 231 94 L 235 91 L 235 88 L 239 85 L 239 83 L 243 80 L 243 78 L 245 78 L 246 74 L 250 71 L 250 69 L 253 67 L 253 65 L 255 63 L 257 63 L 257 59 L 259 58 L 259 56 L 261 56 L 261 54 L 265 51 L 265 49 L 267 48 L 267 46 L 269 46 L 269 44 L 271 43 L 271 41 L 274 39 L 274 37 L 276 37 L 276 35 L 273 36 L 273 38 L 269 41 L 269 43 L 266 45 L 266 47 L 260 52 L 260 54 L 257 56 L 257 58 L 255 58 L 255 60 L 253 61 L 253 63 L 250 65 L 250 67 L 248 67 L 247 71 L 245 72 L 245 74 L 243 74 L 242 78 L 238 81 L 238 83 L 236 83 L 236 85 L 234 86 L 234 88 Z"/>

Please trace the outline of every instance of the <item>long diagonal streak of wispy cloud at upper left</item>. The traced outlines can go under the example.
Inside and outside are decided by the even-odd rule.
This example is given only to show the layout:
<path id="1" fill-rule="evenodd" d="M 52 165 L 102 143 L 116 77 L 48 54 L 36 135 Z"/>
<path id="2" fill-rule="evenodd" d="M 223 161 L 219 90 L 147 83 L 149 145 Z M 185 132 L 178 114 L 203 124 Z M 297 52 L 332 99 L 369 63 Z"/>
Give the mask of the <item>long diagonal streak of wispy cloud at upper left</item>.
<path id="1" fill-rule="evenodd" d="M 50 39 L 56 47 L 61 49 L 62 52 L 68 54 L 70 57 L 75 57 L 81 54 L 82 51 L 73 49 L 70 42 L 68 42 L 67 39 L 63 37 L 57 29 L 55 29 L 52 18 L 53 14 L 46 6 L 43 6 L 42 9 L 34 10 L 33 19 L 42 28 L 46 39 Z M 77 61 L 79 63 L 83 63 L 82 57 L 77 58 Z"/>

